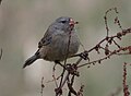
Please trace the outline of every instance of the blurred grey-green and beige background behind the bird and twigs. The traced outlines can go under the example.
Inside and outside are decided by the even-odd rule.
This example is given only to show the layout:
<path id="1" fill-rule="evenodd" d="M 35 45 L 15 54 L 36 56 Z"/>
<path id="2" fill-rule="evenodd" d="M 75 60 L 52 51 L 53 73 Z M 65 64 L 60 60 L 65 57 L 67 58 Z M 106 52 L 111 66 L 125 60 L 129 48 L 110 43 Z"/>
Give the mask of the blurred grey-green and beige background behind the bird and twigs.
<path id="1" fill-rule="evenodd" d="M 55 83 L 46 83 L 52 80 L 53 63 L 37 60 L 31 67 L 22 69 L 24 61 L 37 50 L 37 43 L 49 24 L 64 15 L 80 22 L 76 26 L 80 40 L 85 49 L 92 48 L 106 35 L 104 14 L 114 7 L 119 10 L 123 28 L 130 27 L 131 0 L 3 0 L 0 5 L 0 48 L 3 49 L 0 60 L 0 96 L 40 96 L 43 76 L 46 86 L 44 96 L 55 96 Z M 120 31 L 114 24 L 115 15 L 114 12 L 108 15 L 111 34 Z M 120 44 L 131 44 L 130 36 Z M 95 56 L 96 53 L 93 58 L 97 58 Z M 79 89 L 84 84 L 84 96 L 110 96 L 122 86 L 122 63 L 131 62 L 130 58 L 131 56 L 112 57 L 90 69 L 82 68 L 75 88 Z M 60 70 L 57 71 L 59 74 Z M 128 83 L 130 86 L 130 77 Z"/>

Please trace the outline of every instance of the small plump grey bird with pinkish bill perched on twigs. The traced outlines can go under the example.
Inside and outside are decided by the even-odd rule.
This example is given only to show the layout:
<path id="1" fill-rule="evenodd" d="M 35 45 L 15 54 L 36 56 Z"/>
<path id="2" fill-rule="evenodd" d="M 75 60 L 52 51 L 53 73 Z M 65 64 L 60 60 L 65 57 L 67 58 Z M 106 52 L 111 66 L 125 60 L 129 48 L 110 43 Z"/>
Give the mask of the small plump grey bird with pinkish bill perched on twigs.
<path id="1" fill-rule="evenodd" d="M 37 59 L 60 62 L 75 55 L 80 47 L 75 29 L 78 23 L 69 16 L 56 19 L 38 43 L 37 51 L 25 61 L 23 68 L 31 65 Z"/>

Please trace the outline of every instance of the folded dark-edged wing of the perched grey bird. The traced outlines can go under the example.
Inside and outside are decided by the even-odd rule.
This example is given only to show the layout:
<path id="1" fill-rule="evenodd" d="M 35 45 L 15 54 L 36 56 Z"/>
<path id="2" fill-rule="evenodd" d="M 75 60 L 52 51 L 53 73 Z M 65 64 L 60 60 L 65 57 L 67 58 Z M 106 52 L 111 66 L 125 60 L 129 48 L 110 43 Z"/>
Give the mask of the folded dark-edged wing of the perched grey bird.
<path id="1" fill-rule="evenodd" d="M 43 46 L 47 46 L 51 43 L 52 39 L 52 32 L 53 29 L 47 29 L 47 32 L 45 33 L 44 37 L 40 39 L 40 41 L 38 43 L 38 48 L 41 48 Z"/>

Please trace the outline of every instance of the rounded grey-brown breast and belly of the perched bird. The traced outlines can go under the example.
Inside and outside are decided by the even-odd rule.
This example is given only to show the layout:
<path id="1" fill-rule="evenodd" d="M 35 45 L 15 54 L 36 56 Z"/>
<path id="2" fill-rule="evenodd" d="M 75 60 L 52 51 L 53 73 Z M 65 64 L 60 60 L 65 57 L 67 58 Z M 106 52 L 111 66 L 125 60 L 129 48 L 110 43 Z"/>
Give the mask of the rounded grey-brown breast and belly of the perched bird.
<path id="1" fill-rule="evenodd" d="M 49 61 L 64 60 L 66 57 L 70 57 L 79 50 L 79 38 L 75 34 L 66 35 L 59 34 L 52 37 L 50 45 L 46 46 L 44 50 L 44 59 Z"/>

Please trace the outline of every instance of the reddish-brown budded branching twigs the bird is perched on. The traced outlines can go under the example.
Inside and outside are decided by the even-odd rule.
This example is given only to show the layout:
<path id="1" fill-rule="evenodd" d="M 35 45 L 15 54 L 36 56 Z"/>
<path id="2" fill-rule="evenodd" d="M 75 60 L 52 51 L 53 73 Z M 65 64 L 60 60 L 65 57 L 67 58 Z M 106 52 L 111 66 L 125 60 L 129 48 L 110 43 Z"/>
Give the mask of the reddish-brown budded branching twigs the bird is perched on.
<path id="1" fill-rule="evenodd" d="M 78 53 L 75 56 L 72 56 L 72 58 L 80 57 L 74 63 L 67 63 L 67 59 L 63 64 L 58 63 L 63 69 L 63 71 L 61 72 L 60 76 L 58 76 L 58 77 L 56 77 L 55 71 L 52 74 L 53 81 L 56 83 L 56 88 L 55 88 L 56 96 L 62 95 L 62 93 L 63 93 L 62 88 L 66 84 L 69 89 L 68 96 L 72 96 L 72 94 L 75 96 L 83 96 L 84 85 L 81 86 L 80 91 L 75 91 L 73 87 L 73 84 L 75 82 L 75 76 L 80 76 L 80 72 L 79 72 L 80 68 L 85 67 L 85 65 L 87 68 L 90 68 L 92 64 L 102 63 L 102 61 L 110 59 L 115 55 L 116 56 L 131 55 L 131 45 L 122 47 L 118 43 L 118 40 L 119 41 L 122 40 L 123 36 L 131 34 L 131 27 L 123 29 L 120 24 L 119 17 L 116 16 L 115 24 L 117 24 L 121 31 L 118 32 L 116 35 L 110 36 L 109 27 L 108 27 L 108 23 L 107 23 L 107 14 L 110 11 L 115 11 L 118 14 L 117 8 L 109 9 L 105 12 L 104 20 L 105 20 L 106 33 L 107 33 L 105 38 L 103 38 L 99 43 L 97 43 L 93 48 L 91 48 L 88 50 L 84 50 L 83 52 Z M 69 39 L 69 46 L 70 46 L 70 39 Z M 69 50 L 69 46 L 68 46 L 68 50 Z M 110 49 L 110 46 L 116 46 L 116 49 Z M 98 56 L 102 55 L 100 50 L 104 51 L 104 57 L 100 59 L 91 61 L 90 53 L 94 50 L 96 51 L 96 53 Z M 87 60 L 87 62 L 80 63 L 82 60 Z M 53 67 L 53 69 L 55 69 L 55 67 Z M 124 95 L 124 96 L 128 96 L 128 95 Z"/>

